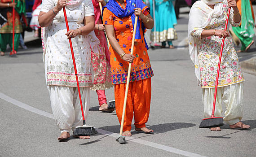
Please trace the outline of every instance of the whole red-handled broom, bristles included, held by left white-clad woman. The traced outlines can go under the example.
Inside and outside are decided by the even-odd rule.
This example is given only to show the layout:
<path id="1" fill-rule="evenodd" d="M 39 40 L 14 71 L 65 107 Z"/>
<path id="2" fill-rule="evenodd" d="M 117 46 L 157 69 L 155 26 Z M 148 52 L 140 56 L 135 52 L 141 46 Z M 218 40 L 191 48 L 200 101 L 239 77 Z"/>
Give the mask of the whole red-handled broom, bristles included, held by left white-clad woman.
<path id="1" fill-rule="evenodd" d="M 64 17 L 65 17 L 65 22 L 66 22 L 66 29 L 67 29 L 67 31 L 69 31 L 65 7 L 63 7 L 63 12 L 64 12 Z M 95 130 L 95 128 L 93 126 L 87 126 L 85 124 L 84 110 L 83 110 L 83 104 L 82 104 L 82 98 L 81 98 L 81 93 L 80 93 L 80 87 L 79 87 L 78 76 L 77 76 L 76 65 L 75 65 L 75 56 L 74 56 L 71 38 L 69 39 L 69 44 L 70 44 L 70 49 L 71 49 L 73 65 L 74 65 L 74 69 L 75 69 L 75 79 L 76 79 L 76 83 L 77 83 L 77 89 L 78 89 L 79 100 L 80 100 L 80 105 L 81 105 L 81 112 L 82 112 L 82 116 L 83 116 L 83 124 L 84 124 L 83 126 L 76 126 L 75 127 L 76 129 L 75 129 L 73 135 L 76 135 L 76 136 L 94 135 L 94 134 L 97 134 L 97 131 Z"/>

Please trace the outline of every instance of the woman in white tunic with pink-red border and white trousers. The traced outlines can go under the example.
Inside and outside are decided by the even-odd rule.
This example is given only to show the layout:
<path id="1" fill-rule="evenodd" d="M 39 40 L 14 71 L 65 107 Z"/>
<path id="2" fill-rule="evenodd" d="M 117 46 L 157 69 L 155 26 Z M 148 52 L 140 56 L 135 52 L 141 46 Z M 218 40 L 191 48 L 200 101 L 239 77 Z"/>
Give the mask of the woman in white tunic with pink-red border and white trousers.
<path id="1" fill-rule="evenodd" d="M 63 7 L 66 7 L 70 31 L 67 32 Z M 38 21 L 45 27 L 44 67 L 53 115 L 61 131 L 58 140 L 70 137 L 71 130 L 82 126 L 77 83 L 69 40 L 71 38 L 77 67 L 85 120 L 90 105 L 92 65 L 90 39 L 94 30 L 94 9 L 91 0 L 43 0 Z M 95 34 L 93 34 L 95 36 Z M 66 38 L 67 37 L 67 38 Z M 88 139 L 89 136 L 75 136 Z"/>

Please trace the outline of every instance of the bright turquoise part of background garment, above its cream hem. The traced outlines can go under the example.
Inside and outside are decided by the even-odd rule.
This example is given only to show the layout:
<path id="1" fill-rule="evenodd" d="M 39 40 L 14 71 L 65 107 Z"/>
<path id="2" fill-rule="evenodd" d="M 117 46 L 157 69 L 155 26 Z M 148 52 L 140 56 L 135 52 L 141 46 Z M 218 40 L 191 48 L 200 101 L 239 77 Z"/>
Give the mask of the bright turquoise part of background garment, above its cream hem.
<path id="1" fill-rule="evenodd" d="M 177 24 L 177 18 L 175 10 L 172 4 L 172 0 L 155 0 L 155 26 L 156 32 L 162 32 L 169 28 L 174 28 Z M 153 12 L 153 0 L 150 0 L 150 15 L 152 17 Z M 154 32 L 154 28 L 151 30 Z"/>

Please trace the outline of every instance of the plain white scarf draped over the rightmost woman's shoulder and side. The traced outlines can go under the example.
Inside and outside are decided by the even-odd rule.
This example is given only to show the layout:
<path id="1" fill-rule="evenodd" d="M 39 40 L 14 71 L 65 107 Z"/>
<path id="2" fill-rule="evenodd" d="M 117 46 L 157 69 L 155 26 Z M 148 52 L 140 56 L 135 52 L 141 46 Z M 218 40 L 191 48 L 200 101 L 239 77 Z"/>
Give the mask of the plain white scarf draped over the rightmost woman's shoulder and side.
<path id="1" fill-rule="evenodd" d="M 195 75 L 198 80 L 198 85 L 201 85 L 201 74 L 198 59 L 198 41 L 191 33 L 192 31 L 205 28 L 212 20 L 212 17 L 219 17 L 223 13 L 222 7 L 223 0 L 199 0 L 196 1 L 190 9 L 189 15 L 189 27 L 188 27 L 188 39 L 190 59 L 195 67 Z M 214 5 L 214 9 L 208 5 Z"/>

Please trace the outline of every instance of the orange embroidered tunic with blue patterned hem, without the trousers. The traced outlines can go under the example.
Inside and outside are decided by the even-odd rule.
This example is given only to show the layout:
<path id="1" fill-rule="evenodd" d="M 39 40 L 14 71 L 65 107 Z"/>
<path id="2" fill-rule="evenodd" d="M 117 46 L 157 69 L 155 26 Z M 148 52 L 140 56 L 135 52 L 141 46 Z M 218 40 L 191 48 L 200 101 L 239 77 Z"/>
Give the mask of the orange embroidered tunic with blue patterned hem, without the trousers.
<path id="1" fill-rule="evenodd" d="M 126 4 L 126 0 L 124 0 Z M 119 3 L 122 7 L 122 5 Z M 149 12 L 146 8 L 141 9 L 142 13 L 148 15 Z M 141 19 L 138 19 L 141 21 Z M 118 41 L 120 47 L 125 53 L 131 52 L 132 47 L 132 34 L 133 26 L 131 17 L 119 18 L 115 16 L 108 9 L 104 9 L 103 22 L 105 25 L 113 25 L 115 29 L 115 38 Z M 131 68 L 130 82 L 139 81 L 152 77 L 153 70 L 151 69 L 150 59 L 148 56 L 146 44 L 144 41 L 144 35 L 140 25 L 141 40 L 135 40 L 133 55 L 136 57 L 133 60 Z M 127 61 L 121 59 L 119 54 L 114 51 L 110 46 L 110 69 L 112 84 L 126 83 L 128 73 Z"/>

